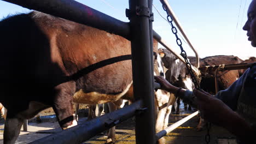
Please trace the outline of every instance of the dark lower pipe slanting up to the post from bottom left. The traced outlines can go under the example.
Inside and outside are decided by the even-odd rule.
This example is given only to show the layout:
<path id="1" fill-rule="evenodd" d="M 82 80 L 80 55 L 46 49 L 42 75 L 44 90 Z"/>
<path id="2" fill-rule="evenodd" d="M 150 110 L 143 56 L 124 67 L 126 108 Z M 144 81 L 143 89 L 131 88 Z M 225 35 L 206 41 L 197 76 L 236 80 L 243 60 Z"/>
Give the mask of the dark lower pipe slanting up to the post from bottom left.
<path id="1" fill-rule="evenodd" d="M 136 112 L 141 112 L 142 101 L 138 100 L 135 103 L 125 106 L 123 109 L 107 113 L 101 117 L 84 122 L 75 127 L 62 130 L 59 133 L 43 137 L 42 139 L 31 142 L 34 143 L 82 143 L 89 140 L 91 137 L 107 130 L 114 125 L 125 121 L 135 115 Z"/>

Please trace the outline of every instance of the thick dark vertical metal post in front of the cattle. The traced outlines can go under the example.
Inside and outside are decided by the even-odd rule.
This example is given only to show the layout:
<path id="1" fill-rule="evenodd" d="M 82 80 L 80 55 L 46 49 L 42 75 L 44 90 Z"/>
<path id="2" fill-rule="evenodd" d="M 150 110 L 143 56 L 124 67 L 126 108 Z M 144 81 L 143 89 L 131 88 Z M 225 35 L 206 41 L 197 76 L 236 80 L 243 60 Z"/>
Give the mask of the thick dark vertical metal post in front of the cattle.
<path id="1" fill-rule="evenodd" d="M 129 0 L 133 92 L 136 100 L 143 100 L 147 110 L 136 115 L 136 143 L 153 144 L 155 139 L 153 49 L 150 49 L 149 16 L 147 0 Z M 152 28 L 150 29 L 152 31 Z"/>

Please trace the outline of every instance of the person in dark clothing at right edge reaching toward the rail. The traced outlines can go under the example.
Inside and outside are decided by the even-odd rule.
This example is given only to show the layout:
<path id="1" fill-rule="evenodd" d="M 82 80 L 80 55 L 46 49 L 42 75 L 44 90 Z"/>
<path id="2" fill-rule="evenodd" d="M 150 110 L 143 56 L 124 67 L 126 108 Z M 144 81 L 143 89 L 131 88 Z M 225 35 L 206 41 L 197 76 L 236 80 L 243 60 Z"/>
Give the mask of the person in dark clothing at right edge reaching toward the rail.
<path id="1" fill-rule="evenodd" d="M 249 5 L 248 20 L 243 26 L 247 31 L 248 40 L 256 47 L 256 0 Z M 178 97 L 192 93 L 174 87 L 163 77 L 155 76 L 161 89 L 172 92 Z M 211 94 L 195 89 L 194 103 L 207 121 L 224 127 L 237 136 L 238 143 L 256 143 L 256 65 L 246 72 L 228 89 L 220 91 L 213 97 Z M 193 97 L 193 96 L 191 96 Z"/>

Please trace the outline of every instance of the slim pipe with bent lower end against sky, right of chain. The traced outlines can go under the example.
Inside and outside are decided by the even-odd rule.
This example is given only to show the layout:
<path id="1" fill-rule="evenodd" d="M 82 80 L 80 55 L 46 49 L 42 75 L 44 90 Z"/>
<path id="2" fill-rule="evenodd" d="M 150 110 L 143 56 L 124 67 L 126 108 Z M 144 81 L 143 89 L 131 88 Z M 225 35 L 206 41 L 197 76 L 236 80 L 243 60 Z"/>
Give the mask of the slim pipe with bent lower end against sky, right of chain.
<path id="1" fill-rule="evenodd" d="M 164 5 L 164 4 L 166 5 L 166 7 L 167 7 L 166 10 L 167 10 L 168 14 L 170 14 L 170 15 L 172 16 L 172 19 L 173 19 L 174 23 L 176 23 L 176 26 L 178 27 L 179 31 L 181 31 L 181 33 L 182 33 L 183 37 L 185 38 L 185 40 L 188 41 L 188 44 L 189 44 L 190 48 L 195 52 L 195 56 L 196 56 L 196 68 L 199 68 L 199 67 L 200 67 L 200 63 L 199 63 L 199 56 L 198 56 L 198 53 L 197 53 L 197 51 L 194 49 L 193 45 L 190 43 L 190 41 L 189 41 L 187 35 L 185 34 L 185 32 L 183 31 L 183 28 L 182 28 L 182 26 L 181 26 L 181 24 L 180 24 L 178 18 L 177 18 L 176 15 L 174 14 L 174 12 L 173 12 L 173 10 L 172 10 L 170 4 L 168 3 L 167 0 L 160 0 L 160 2 L 161 2 L 163 5 Z"/>

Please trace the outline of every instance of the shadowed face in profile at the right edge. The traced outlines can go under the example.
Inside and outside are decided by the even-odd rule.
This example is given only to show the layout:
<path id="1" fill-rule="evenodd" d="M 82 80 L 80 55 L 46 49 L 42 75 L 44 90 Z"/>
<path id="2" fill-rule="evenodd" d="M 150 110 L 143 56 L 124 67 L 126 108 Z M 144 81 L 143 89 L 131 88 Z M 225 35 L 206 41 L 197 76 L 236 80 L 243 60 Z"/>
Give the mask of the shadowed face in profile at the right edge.
<path id="1" fill-rule="evenodd" d="M 253 0 L 249 5 L 247 11 L 247 21 L 243 30 L 247 31 L 248 40 L 251 41 L 251 45 L 256 47 L 256 0 Z"/>

